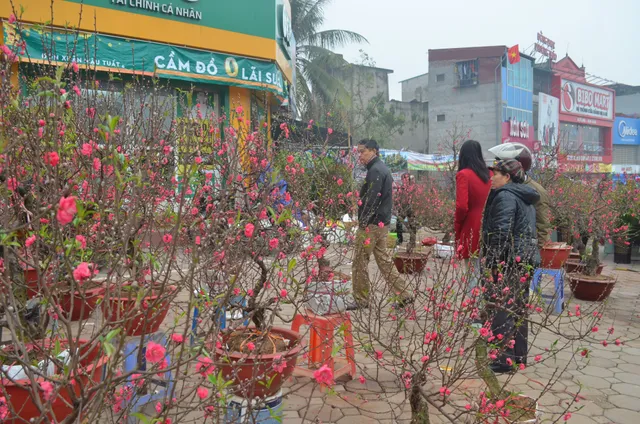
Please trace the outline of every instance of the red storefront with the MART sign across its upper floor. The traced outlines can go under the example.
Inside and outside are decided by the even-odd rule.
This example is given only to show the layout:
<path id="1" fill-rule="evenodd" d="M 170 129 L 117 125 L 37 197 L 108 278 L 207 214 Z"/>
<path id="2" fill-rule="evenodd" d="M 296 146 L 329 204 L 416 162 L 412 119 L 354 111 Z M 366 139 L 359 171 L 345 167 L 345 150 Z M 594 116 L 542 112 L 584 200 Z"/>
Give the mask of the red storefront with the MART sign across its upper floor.
<path id="1" fill-rule="evenodd" d="M 560 169 L 611 172 L 615 92 L 556 74 L 552 94 L 560 99 Z"/>

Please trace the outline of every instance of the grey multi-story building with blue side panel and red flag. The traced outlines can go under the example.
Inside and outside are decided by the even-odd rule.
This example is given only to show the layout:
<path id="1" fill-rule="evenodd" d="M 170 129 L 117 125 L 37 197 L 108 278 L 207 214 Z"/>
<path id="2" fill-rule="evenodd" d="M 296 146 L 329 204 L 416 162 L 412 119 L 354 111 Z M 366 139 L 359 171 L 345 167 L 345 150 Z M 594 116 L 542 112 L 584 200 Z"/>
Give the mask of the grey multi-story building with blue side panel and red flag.
<path id="1" fill-rule="evenodd" d="M 533 60 L 507 60 L 506 46 L 429 50 L 427 98 L 430 151 L 478 140 L 533 147 Z"/>

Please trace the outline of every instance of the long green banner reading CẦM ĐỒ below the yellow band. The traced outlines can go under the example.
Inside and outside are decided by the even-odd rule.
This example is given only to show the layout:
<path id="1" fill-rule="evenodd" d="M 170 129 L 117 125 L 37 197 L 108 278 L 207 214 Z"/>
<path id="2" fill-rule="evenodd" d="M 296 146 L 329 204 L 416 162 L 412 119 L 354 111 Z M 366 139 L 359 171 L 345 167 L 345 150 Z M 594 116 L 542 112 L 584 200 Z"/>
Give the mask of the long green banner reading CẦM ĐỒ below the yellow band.
<path id="1" fill-rule="evenodd" d="M 4 23 L 5 44 L 20 61 L 264 90 L 282 99 L 287 86 L 275 63 L 87 32 Z"/>

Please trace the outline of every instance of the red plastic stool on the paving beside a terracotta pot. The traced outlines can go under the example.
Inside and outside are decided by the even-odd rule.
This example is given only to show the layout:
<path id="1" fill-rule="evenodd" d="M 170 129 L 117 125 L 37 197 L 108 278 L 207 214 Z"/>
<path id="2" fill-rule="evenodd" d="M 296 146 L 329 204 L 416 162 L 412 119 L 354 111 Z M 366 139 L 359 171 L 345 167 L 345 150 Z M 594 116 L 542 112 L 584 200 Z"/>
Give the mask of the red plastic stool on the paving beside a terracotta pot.
<path id="1" fill-rule="evenodd" d="M 299 332 L 302 325 L 309 326 L 309 368 L 296 367 L 294 375 L 313 377 L 314 369 L 327 365 L 333 370 L 334 378 L 348 374 L 356 375 L 355 353 L 351 318 L 348 314 L 316 315 L 307 310 L 293 318 L 291 329 Z M 333 357 L 333 338 L 336 330 L 344 329 L 345 357 Z"/>

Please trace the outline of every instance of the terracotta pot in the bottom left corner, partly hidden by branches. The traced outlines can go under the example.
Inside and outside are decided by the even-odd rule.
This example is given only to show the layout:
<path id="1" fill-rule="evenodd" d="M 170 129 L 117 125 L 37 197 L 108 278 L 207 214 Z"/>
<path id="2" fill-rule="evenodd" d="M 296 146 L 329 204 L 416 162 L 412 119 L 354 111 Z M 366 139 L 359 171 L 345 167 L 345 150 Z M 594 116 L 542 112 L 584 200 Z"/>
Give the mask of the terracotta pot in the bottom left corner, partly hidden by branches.
<path id="1" fill-rule="evenodd" d="M 44 340 L 43 344 L 38 344 L 37 347 L 49 348 L 54 342 L 51 340 Z M 76 396 L 80 395 L 80 389 L 85 393 L 95 385 L 100 384 L 102 380 L 102 371 L 104 365 L 109 360 L 108 357 L 103 356 L 97 359 L 97 355 L 100 352 L 100 346 L 90 346 L 88 340 L 78 340 L 80 347 L 80 366 L 82 366 L 82 373 L 74 373 L 71 375 L 71 383 L 60 388 L 57 392 L 56 398 L 52 401 L 51 410 L 49 415 L 51 421 L 59 422 L 62 419 L 68 417 L 73 411 L 69 405 L 73 405 L 71 400 L 71 391 L 75 391 Z M 62 348 L 68 346 L 67 340 L 60 340 Z M 84 346 L 82 346 L 84 344 Z M 27 345 L 27 348 L 34 347 L 36 345 Z M 90 354 L 82 358 L 82 356 L 90 351 Z M 36 379 L 36 384 L 44 382 L 44 378 Z M 5 424 L 18 424 L 29 422 L 31 419 L 40 418 L 41 413 L 38 407 L 35 405 L 32 399 L 33 389 L 31 386 L 31 380 L 15 380 L 10 381 L 8 379 L 2 379 L 3 391 L 6 393 L 7 403 L 10 404 L 10 411 L 14 410 L 17 415 L 10 415 L 3 421 Z M 4 393 L 3 393 L 4 394 Z M 40 396 L 40 401 L 45 403 L 42 393 L 35 394 Z"/>

